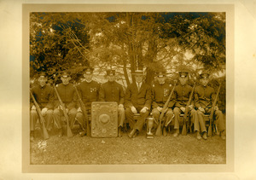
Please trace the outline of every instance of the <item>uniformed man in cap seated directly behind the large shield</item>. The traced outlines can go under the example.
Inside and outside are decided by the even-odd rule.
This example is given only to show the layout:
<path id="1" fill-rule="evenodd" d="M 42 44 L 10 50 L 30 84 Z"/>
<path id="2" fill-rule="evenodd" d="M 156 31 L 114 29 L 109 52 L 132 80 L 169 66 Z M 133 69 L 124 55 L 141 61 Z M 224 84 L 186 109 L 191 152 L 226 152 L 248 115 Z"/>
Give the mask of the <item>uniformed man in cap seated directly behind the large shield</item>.
<path id="1" fill-rule="evenodd" d="M 107 71 L 108 82 L 102 84 L 99 91 L 99 100 L 102 102 L 118 102 L 119 104 L 119 118 L 118 118 L 118 128 L 119 136 L 121 136 L 121 128 L 125 122 L 125 108 L 124 108 L 124 90 L 121 84 L 115 82 L 115 71 Z"/>

